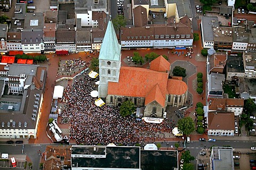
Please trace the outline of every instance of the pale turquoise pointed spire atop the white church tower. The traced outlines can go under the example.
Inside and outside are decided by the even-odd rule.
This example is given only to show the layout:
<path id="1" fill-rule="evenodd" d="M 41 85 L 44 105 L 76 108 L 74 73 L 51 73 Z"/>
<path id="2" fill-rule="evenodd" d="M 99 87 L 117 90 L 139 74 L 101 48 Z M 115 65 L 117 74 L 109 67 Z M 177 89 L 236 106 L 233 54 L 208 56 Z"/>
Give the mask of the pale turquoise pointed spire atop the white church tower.
<path id="1" fill-rule="evenodd" d="M 100 47 L 99 60 L 119 61 L 120 54 L 121 45 L 118 44 L 113 23 L 109 20 L 105 36 Z"/>

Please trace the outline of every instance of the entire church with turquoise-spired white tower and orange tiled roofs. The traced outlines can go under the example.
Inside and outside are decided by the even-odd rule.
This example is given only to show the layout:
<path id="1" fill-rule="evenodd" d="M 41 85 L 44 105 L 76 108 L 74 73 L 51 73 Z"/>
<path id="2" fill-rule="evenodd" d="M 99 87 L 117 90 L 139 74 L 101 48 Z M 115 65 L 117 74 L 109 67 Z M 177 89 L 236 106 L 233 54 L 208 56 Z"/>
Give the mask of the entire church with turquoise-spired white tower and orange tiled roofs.
<path id="1" fill-rule="evenodd" d="M 110 42 L 111 41 L 111 42 Z M 121 47 L 111 21 L 108 23 L 99 55 L 99 97 L 109 106 L 120 107 L 131 100 L 143 108 L 143 117 L 163 118 L 167 105 L 183 106 L 188 86 L 180 78 L 171 78 L 171 64 L 159 56 L 149 69 L 121 66 Z"/>

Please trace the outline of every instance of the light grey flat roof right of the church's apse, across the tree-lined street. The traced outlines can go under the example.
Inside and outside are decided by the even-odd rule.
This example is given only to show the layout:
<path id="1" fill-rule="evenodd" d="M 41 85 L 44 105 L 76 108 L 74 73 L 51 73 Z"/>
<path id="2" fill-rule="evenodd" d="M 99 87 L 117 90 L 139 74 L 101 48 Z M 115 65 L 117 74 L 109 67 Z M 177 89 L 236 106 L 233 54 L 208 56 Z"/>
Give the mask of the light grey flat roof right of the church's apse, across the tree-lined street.
<path id="1" fill-rule="evenodd" d="M 222 91 L 222 83 L 225 81 L 225 74 L 211 73 L 209 76 L 210 91 Z"/>

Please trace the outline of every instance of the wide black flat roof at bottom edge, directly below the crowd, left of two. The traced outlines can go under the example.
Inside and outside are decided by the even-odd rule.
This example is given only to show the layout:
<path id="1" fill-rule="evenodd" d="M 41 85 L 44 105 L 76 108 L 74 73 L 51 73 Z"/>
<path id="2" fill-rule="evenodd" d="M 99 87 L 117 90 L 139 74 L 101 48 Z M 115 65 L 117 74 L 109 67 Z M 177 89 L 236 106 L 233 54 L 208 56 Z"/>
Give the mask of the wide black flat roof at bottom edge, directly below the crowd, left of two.
<path id="1" fill-rule="evenodd" d="M 94 148 L 99 148 L 100 153 L 94 151 Z M 76 157 L 75 154 L 79 156 Z M 72 146 L 71 167 L 140 169 L 140 147 Z"/>

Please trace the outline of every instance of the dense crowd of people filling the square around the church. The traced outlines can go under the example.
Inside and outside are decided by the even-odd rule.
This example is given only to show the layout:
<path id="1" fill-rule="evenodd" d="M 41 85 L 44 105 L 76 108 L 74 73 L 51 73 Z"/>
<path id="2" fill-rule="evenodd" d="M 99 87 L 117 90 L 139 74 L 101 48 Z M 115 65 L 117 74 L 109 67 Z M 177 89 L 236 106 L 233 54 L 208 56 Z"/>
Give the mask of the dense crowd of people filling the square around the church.
<path id="1" fill-rule="evenodd" d="M 135 145 L 135 143 L 165 140 L 174 128 L 173 120 L 164 120 L 161 124 L 137 121 L 128 116 L 122 117 L 113 107 L 98 107 L 91 97 L 92 90 L 97 88 L 98 79 L 90 78 L 87 73 L 76 78 L 72 86 L 64 91 L 64 107 L 61 116 L 69 117 L 69 139 L 84 145 Z M 167 132 L 167 133 L 166 133 Z"/>

